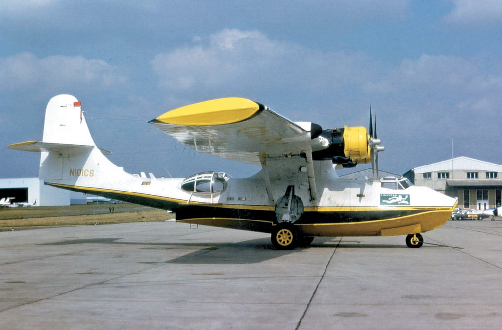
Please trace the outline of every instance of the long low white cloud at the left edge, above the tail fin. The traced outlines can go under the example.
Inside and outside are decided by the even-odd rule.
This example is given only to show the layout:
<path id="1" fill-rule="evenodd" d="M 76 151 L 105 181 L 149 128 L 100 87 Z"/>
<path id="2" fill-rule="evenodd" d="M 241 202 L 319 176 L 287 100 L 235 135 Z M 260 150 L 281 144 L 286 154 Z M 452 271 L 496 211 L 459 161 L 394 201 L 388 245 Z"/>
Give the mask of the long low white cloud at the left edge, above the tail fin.
<path id="1" fill-rule="evenodd" d="M 122 86 L 127 77 L 103 60 L 82 56 L 37 58 L 30 52 L 0 58 L 0 90 L 32 88 L 88 89 Z"/>

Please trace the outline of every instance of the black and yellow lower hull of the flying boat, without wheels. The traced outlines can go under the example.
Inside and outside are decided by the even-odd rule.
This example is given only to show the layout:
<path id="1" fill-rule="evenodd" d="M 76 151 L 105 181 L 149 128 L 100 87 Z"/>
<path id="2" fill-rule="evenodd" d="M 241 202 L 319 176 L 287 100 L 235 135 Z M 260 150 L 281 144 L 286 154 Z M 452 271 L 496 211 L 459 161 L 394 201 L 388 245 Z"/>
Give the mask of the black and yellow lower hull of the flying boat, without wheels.
<path id="1" fill-rule="evenodd" d="M 207 204 L 120 190 L 49 183 L 132 203 L 169 209 L 177 222 L 270 233 L 277 225 L 273 206 Z M 306 207 L 294 226 L 307 236 L 392 236 L 436 229 L 448 221 L 451 206 Z"/>

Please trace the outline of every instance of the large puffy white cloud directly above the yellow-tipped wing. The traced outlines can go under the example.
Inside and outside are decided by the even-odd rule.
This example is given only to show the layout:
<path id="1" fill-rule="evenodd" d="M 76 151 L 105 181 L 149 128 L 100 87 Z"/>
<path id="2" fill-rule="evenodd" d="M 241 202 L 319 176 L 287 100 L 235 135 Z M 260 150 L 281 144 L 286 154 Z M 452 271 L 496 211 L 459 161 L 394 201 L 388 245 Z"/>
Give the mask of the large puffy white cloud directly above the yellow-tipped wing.
<path id="1" fill-rule="evenodd" d="M 323 53 L 236 29 L 213 34 L 206 43 L 158 54 L 151 64 L 159 86 L 173 94 L 331 93 L 360 87 L 376 66 L 364 53 Z"/>

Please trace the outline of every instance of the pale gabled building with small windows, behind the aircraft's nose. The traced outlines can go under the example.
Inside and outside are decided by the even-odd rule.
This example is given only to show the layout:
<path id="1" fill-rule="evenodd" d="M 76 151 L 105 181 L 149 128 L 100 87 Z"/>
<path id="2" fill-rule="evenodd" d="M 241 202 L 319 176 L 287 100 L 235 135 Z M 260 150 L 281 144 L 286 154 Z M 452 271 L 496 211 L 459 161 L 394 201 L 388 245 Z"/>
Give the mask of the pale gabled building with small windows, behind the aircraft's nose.
<path id="1" fill-rule="evenodd" d="M 484 210 L 500 206 L 502 165 L 465 156 L 446 159 L 404 175 L 417 186 L 458 198 L 458 207 Z"/>

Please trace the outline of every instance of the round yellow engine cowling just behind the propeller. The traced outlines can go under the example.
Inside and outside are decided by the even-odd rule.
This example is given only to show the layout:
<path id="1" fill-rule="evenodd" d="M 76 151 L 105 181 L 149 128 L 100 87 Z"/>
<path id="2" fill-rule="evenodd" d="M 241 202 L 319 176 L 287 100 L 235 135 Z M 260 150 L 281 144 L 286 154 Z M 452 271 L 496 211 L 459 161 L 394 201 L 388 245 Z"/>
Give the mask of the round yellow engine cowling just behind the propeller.
<path id="1" fill-rule="evenodd" d="M 343 127 L 343 153 L 345 157 L 356 163 L 371 161 L 371 150 L 368 144 L 369 135 L 365 127 Z"/>

